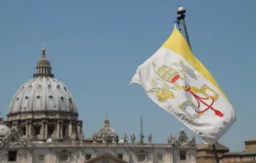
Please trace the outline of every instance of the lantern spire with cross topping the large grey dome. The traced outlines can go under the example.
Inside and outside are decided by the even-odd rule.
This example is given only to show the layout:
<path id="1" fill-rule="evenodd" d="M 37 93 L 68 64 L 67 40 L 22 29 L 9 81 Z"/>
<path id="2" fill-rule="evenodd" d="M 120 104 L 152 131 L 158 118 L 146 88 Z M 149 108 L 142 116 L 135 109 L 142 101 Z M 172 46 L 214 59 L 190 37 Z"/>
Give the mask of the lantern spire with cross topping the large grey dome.
<path id="1" fill-rule="evenodd" d="M 46 59 L 45 56 L 45 47 L 42 49 L 42 55 L 40 60 L 36 65 L 36 73 L 33 77 L 46 76 L 46 77 L 55 77 L 54 74 L 51 73 L 50 61 Z"/>

